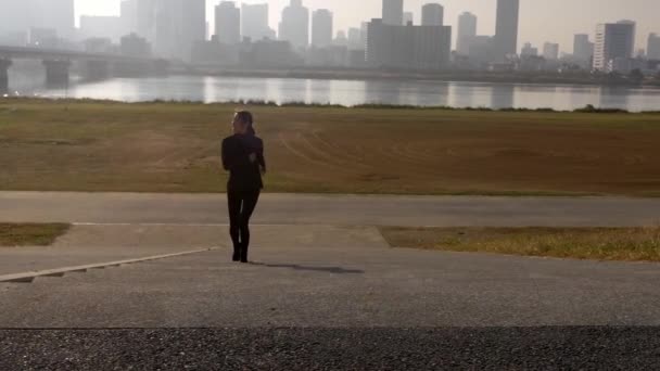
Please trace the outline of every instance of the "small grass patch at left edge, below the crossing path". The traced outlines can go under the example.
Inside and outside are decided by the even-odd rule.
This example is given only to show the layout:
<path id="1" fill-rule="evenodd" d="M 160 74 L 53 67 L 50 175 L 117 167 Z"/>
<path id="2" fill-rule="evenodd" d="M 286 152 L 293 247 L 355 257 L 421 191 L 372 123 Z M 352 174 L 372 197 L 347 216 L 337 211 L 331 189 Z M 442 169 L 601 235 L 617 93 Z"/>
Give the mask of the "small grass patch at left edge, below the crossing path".
<path id="1" fill-rule="evenodd" d="M 49 246 L 68 229 L 62 223 L 0 223 L 0 247 Z"/>

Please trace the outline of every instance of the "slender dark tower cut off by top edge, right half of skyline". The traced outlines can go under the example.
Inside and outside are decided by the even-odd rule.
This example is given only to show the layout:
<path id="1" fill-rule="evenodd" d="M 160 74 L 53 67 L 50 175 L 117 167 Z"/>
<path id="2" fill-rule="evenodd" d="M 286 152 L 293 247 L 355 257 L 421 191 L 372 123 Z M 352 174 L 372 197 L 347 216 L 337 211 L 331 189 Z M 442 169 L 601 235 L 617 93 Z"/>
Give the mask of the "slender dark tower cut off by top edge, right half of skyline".
<path id="1" fill-rule="evenodd" d="M 495 26 L 495 53 L 497 62 L 518 51 L 518 17 L 520 0 L 497 0 L 497 24 Z"/>

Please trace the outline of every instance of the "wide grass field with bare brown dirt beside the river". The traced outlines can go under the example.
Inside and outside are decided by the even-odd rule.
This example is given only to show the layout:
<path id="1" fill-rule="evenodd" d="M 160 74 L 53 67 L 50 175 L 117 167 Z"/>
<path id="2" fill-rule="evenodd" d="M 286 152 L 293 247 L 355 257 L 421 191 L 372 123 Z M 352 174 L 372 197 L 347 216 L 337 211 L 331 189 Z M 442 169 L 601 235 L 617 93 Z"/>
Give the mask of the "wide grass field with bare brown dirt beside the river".
<path id="1" fill-rule="evenodd" d="M 0 99 L 0 189 L 221 192 L 236 105 Z M 660 196 L 660 115 L 254 106 L 268 192 Z"/>

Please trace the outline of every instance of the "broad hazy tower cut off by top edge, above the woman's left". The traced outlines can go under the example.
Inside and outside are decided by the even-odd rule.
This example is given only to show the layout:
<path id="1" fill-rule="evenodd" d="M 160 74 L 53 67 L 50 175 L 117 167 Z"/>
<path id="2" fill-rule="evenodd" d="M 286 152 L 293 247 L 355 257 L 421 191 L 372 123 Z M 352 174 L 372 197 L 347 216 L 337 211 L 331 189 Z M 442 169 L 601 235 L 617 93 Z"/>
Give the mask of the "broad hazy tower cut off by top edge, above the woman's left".
<path id="1" fill-rule="evenodd" d="M 206 1 L 160 0 L 156 5 L 156 53 L 189 61 L 194 43 L 206 39 Z"/>

